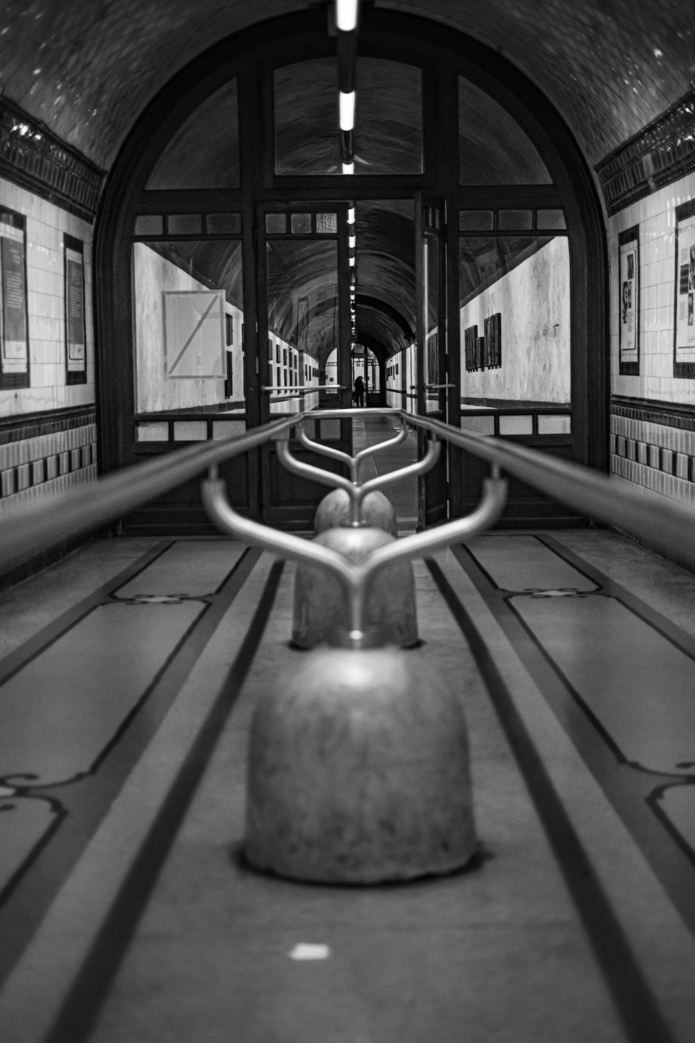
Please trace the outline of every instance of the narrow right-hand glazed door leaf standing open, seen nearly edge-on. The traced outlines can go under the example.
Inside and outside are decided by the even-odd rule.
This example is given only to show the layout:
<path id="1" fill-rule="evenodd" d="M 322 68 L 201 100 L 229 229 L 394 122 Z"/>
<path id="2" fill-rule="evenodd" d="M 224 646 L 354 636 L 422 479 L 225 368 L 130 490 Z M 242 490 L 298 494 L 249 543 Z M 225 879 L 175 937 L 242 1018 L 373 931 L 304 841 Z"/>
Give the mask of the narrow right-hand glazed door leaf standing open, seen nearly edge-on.
<path id="1" fill-rule="evenodd" d="M 448 380 L 446 326 L 446 219 L 443 199 L 418 193 L 416 200 L 416 338 L 418 413 L 446 422 Z M 419 454 L 425 437 L 420 436 Z M 448 517 L 447 447 L 420 481 L 418 527 Z"/>

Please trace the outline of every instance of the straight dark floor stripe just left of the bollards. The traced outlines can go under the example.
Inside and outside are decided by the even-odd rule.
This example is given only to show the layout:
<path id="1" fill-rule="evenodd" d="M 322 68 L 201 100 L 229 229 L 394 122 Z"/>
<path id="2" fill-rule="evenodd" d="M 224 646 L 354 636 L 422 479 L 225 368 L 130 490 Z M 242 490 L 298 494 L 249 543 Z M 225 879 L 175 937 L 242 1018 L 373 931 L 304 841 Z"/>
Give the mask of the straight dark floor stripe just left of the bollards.
<path id="1" fill-rule="evenodd" d="M 272 565 L 226 681 L 199 728 L 45 1043 L 86 1043 L 89 1040 L 220 733 L 240 695 L 273 607 L 283 565 L 282 561 Z"/>

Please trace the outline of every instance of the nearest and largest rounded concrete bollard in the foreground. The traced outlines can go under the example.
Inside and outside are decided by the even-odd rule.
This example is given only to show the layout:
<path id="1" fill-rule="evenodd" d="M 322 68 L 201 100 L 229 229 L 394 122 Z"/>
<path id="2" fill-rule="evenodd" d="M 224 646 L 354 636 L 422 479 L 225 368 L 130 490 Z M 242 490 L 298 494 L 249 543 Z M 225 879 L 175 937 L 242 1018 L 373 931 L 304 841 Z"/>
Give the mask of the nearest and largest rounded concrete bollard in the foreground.
<path id="1" fill-rule="evenodd" d="M 421 651 L 322 648 L 256 705 L 245 855 L 281 876 L 377 883 L 477 850 L 463 708 Z"/>

